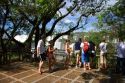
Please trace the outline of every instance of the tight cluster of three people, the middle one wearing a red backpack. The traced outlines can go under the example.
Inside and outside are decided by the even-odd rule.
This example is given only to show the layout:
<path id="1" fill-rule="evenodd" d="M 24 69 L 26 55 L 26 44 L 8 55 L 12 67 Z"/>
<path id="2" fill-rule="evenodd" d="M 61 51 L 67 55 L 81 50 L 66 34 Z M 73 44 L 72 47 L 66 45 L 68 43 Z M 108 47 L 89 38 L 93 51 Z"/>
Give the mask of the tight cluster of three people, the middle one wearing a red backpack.
<path id="1" fill-rule="evenodd" d="M 96 45 L 92 41 L 88 41 L 85 37 L 83 38 L 83 40 L 79 38 L 74 45 L 74 53 L 76 55 L 76 68 L 83 65 L 84 70 L 90 70 L 96 56 L 95 51 Z"/>

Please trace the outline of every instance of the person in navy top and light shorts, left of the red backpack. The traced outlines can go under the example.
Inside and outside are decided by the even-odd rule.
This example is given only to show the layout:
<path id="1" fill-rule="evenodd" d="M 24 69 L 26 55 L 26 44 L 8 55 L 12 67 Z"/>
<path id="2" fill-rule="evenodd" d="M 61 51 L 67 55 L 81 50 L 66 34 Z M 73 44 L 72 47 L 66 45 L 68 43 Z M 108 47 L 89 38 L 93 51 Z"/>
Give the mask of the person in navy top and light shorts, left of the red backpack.
<path id="1" fill-rule="evenodd" d="M 81 61 L 80 61 L 80 54 L 81 54 L 81 48 L 80 48 L 80 45 L 81 45 L 81 38 L 78 39 L 78 41 L 75 42 L 75 45 L 74 45 L 74 50 L 75 50 L 75 55 L 76 55 L 76 68 L 79 66 L 81 66 Z"/>

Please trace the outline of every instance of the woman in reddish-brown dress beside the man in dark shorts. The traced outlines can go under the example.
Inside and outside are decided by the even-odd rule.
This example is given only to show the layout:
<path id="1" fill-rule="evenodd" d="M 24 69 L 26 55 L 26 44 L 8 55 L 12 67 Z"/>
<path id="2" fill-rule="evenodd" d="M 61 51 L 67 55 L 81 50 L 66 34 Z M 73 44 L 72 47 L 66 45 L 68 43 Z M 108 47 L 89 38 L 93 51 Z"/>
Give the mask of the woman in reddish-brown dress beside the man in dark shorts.
<path id="1" fill-rule="evenodd" d="M 49 63 L 49 72 L 51 73 L 53 70 L 52 70 L 52 66 L 56 63 L 56 59 L 55 59 L 55 56 L 53 54 L 53 52 L 56 50 L 53 48 L 53 42 L 52 41 L 49 41 L 49 46 L 48 46 L 48 49 L 47 49 L 47 56 L 48 56 L 48 63 Z"/>

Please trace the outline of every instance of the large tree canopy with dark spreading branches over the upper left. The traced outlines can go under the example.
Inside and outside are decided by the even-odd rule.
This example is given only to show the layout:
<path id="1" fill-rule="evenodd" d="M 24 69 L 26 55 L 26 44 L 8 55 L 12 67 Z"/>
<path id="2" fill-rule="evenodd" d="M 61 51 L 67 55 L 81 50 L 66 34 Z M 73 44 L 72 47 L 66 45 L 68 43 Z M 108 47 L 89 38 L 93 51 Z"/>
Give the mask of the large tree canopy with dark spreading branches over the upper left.
<path id="1" fill-rule="evenodd" d="M 67 5 L 68 3 L 70 5 Z M 10 42 L 14 41 L 18 45 L 30 47 L 33 34 L 35 34 L 35 45 L 37 45 L 39 37 L 44 35 L 46 39 L 53 35 L 56 25 L 64 18 L 69 15 L 73 17 L 78 15 L 73 26 L 66 27 L 66 31 L 55 34 L 53 38 L 53 42 L 55 42 L 62 35 L 82 28 L 82 17 L 101 11 L 104 8 L 105 0 L 1 0 L 0 4 L 0 11 L 2 11 L 0 13 L 2 16 L 0 37 L 1 45 L 4 48 L 6 45 L 2 42 L 4 34 L 7 35 Z M 63 13 L 61 9 L 65 9 L 66 13 Z M 47 24 L 52 20 L 54 22 L 48 29 Z M 5 29 L 7 22 L 12 24 L 8 30 Z M 22 34 L 22 32 L 29 35 L 24 43 L 14 39 L 16 34 Z"/>

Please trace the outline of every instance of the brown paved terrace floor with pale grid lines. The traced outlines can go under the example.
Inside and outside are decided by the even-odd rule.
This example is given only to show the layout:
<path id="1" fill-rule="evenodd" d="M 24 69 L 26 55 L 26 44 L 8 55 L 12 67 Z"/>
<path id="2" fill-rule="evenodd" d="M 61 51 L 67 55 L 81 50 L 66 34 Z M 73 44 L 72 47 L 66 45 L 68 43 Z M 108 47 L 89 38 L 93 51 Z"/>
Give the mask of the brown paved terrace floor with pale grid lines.
<path id="1" fill-rule="evenodd" d="M 14 63 L 8 68 L 0 68 L 0 83 L 114 83 L 96 69 L 83 71 L 83 68 L 64 70 L 57 67 L 53 73 L 49 73 L 46 67 L 44 69 L 44 73 L 39 74 L 37 66 Z"/>

